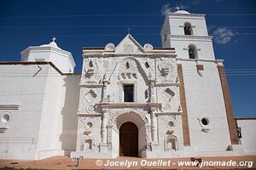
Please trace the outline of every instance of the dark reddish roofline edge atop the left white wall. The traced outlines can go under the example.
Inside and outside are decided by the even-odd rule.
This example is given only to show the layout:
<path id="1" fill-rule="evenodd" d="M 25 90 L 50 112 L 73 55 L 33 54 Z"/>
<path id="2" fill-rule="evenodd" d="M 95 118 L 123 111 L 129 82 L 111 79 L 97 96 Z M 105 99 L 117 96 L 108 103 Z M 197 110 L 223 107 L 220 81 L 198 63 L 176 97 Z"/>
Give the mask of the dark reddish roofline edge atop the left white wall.
<path id="1" fill-rule="evenodd" d="M 0 65 L 50 65 L 52 66 L 55 71 L 59 72 L 61 76 L 68 76 L 68 75 L 81 75 L 81 73 L 63 73 L 55 64 L 50 61 L 0 61 Z"/>

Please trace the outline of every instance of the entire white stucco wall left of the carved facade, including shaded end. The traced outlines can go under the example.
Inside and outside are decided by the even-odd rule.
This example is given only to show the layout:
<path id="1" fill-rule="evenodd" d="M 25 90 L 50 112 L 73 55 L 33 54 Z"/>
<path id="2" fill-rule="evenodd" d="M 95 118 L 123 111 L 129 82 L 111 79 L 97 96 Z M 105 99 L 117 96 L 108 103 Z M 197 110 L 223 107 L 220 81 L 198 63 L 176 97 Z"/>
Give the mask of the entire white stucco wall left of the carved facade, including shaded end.
<path id="1" fill-rule="evenodd" d="M 42 70 L 33 77 L 38 66 Z M 20 105 L 0 110 L 11 114 L 8 129 L 0 133 L 0 157 L 42 159 L 75 150 L 80 75 L 31 63 L 0 65 L 0 71 L 0 105 Z"/>

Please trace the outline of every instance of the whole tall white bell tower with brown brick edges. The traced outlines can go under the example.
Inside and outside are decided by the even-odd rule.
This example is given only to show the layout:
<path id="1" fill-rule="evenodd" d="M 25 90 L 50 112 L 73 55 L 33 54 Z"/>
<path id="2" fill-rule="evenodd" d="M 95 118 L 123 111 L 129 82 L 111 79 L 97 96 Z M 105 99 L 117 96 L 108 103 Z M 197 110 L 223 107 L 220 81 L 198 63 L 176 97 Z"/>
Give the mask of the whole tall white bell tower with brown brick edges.
<path id="1" fill-rule="evenodd" d="M 205 14 L 177 8 L 166 14 L 160 34 L 163 48 L 175 48 L 177 54 L 184 146 L 195 151 L 239 148 L 223 59 L 215 59 Z"/>

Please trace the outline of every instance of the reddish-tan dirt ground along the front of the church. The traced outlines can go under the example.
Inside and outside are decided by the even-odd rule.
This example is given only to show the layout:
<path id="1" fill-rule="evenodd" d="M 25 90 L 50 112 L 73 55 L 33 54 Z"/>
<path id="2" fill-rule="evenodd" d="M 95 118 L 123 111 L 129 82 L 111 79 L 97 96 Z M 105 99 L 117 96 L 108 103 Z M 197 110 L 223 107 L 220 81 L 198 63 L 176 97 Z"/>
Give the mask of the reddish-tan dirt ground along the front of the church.
<path id="1" fill-rule="evenodd" d="M 197 157 L 196 157 L 197 158 Z M 124 163 L 123 166 L 96 166 L 97 164 L 106 164 L 108 162 L 108 159 L 102 159 L 101 161 L 98 161 L 97 159 L 83 159 L 79 161 L 79 167 L 76 167 L 77 161 L 74 161 L 70 159 L 67 156 L 53 156 L 49 157 L 44 160 L 40 161 L 16 161 L 16 160 L 0 160 L 0 169 L 125 169 L 128 164 L 127 161 L 134 162 L 137 161 L 139 163 L 141 162 L 155 162 L 155 163 L 161 163 L 163 161 L 171 161 L 171 166 L 131 166 L 129 169 L 256 169 L 256 156 L 218 156 L 218 157 L 201 157 L 203 161 L 225 161 L 230 162 L 236 161 L 236 162 L 242 162 L 244 164 L 245 161 L 253 162 L 253 165 L 251 163 L 251 166 L 248 166 L 247 163 L 246 166 L 243 167 L 230 167 L 230 166 L 224 166 L 224 167 L 214 167 L 214 166 L 205 166 L 205 167 L 196 167 L 196 166 L 178 166 L 178 161 L 191 161 L 191 158 L 165 158 L 165 159 L 143 159 L 143 158 L 136 158 L 136 157 L 118 157 L 115 159 L 109 159 L 109 161 L 112 161 L 114 163 Z M 143 161 L 144 160 L 144 161 Z M 161 161 L 159 161 L 161 160 Z M 126 162 L 126 164 L 125 164 Z M 250 167 L 250 168 L 249 168 Z"/>

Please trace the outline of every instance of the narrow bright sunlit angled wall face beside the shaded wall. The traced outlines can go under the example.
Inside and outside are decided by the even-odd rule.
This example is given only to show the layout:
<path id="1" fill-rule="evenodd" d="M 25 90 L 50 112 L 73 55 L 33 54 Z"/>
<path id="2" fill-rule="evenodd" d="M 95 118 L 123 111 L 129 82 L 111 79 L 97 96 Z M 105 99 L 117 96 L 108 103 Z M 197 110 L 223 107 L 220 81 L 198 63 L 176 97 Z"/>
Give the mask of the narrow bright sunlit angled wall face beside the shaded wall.
<path id="1" fill-rule="evenodd" d="M 60 108 L 61 74 L 53 68 L 49 68 L 45 92 L 44 104 L 40 123 L 37 159 L 54 155 L 56 136 L 56 120 Z"/>

